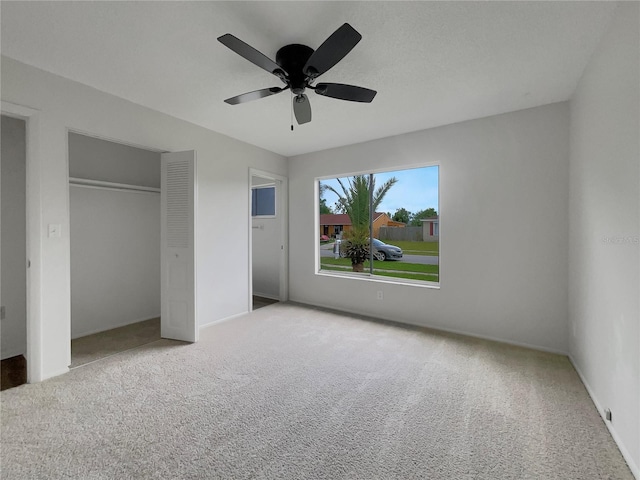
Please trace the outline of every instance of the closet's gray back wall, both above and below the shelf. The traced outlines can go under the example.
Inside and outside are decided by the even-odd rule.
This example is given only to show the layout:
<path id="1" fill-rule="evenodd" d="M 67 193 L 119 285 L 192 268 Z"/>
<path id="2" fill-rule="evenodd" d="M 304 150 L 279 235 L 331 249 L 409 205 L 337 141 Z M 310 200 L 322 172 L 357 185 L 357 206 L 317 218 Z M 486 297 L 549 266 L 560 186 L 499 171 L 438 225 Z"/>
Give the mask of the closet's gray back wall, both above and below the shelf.
<path id="1" fill-rule="evenodd" d="M 69 176 L 157 187 L 160 154 L 69 134 Z M 70 186 L 71 338 L 160 316 L 160 194 Z"/>

